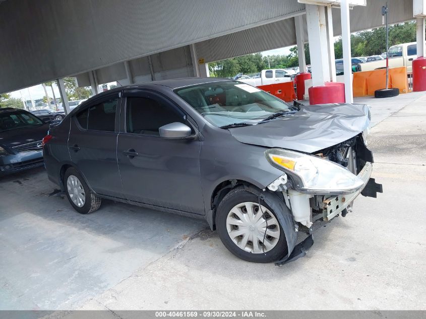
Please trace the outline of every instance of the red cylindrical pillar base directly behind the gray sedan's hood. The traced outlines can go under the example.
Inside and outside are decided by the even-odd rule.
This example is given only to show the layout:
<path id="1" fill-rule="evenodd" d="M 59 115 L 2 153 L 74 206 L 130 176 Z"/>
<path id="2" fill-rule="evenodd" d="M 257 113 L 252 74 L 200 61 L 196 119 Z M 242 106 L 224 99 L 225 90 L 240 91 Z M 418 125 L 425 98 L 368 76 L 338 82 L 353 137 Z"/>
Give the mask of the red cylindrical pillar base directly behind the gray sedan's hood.
<path id="1" fill-rule="evenodd" d="M 309 104 L 345 102 L 345 85 L 339 82 L 326 82 L 325 86 L 309 88 Z"/>

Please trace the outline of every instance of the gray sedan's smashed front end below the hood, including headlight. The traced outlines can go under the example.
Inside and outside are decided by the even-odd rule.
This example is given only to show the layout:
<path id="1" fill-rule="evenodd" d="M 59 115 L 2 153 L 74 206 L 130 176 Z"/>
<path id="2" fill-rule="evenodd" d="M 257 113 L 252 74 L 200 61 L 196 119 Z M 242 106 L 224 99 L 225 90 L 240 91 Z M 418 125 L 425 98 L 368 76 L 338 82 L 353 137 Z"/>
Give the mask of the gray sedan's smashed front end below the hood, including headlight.
<path id="1" fill-rule="evenodd" d="M 305 256 L 313 244 L 314 230 L 339 214 L 346 216 L 352 211 L 353 201 L 359 194 L 377 197 L 377 193 L 382 193 L 382 185 L 371 178 L 374 160 L 364 134 L 309 156 L 303 155 L 301 159 L 292 158 L 292 154 L 285 152 L 282 156 L 274 150 L 268 152 L 270 154 L 266 155 L 271 158 L 271 163 L 275 161 L 275 165 L 283 166 L 285 172 L 269 184 L 268 189 L 282 192 L 293 215 L 294 230 L 308 234 L 294 247 L 290 256 L 278 261 L 277 265 Z M 321 166 L 325 163 L 327 165 Z"/>

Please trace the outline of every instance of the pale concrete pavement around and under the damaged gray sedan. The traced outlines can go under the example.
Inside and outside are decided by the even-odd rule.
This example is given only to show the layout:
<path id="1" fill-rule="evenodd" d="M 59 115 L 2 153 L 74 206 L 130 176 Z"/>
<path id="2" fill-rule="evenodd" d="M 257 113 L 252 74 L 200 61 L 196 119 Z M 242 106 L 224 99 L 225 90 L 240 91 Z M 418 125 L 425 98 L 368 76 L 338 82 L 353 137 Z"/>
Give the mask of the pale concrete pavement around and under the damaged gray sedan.
<path id="1" fill-rule="evenodd" d="M 203 221 L 112 202 L 83 216 L 50 196 L 42 169 L 3 178 L 0 309 L 123 318 L 124 309 L 424 309 L 426 97 L 417 97 L 367 99 L 384 193 L 359 197 L 281 268 L 235 258 Z"/>

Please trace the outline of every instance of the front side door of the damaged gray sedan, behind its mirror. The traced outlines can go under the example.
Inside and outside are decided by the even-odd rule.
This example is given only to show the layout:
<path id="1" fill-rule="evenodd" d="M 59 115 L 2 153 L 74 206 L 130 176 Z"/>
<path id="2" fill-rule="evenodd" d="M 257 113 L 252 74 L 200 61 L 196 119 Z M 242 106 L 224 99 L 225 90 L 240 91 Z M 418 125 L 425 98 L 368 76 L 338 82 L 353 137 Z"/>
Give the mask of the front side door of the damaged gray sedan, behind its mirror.
<path id="1" fill-rule="evenodd" d="M 130 201 L 204 214 L 200 178 L 201 142 L 167 140 L 160 126 L 190 124 L 173 102 L 152 92 L 125 93 L 117 159 L 123 190 Z"/>

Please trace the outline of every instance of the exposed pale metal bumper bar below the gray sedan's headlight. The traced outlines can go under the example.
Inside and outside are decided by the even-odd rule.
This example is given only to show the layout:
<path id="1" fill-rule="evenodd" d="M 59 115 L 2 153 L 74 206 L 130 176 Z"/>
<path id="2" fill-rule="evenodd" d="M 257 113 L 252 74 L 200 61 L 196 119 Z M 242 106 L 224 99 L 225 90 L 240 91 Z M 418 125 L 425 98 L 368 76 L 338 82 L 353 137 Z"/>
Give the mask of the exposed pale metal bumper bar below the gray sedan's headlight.
<path id="1" fill-rule="evenodd" d="M 366 187 L 367 183 L 370 180 L 371 173 L 373 172 L 373 164 L 367 162 L 366 165 L 361 169 L 357 175 L 360 179 L 364 181 L 364 184 L 356 192 L 330 196 L 323 201 L 323 219 L 324 221 L 330 221 L 333 217 L 340 214 L 344 209 L 346 209 L 353 200 L 362 192 Z M 381 192 L 380 192 L 381 193 Z"/>

